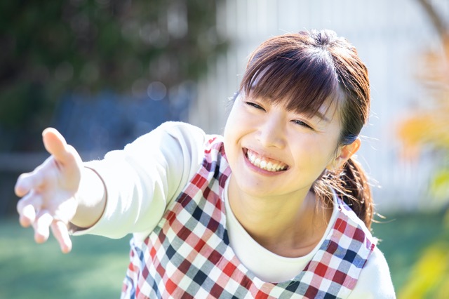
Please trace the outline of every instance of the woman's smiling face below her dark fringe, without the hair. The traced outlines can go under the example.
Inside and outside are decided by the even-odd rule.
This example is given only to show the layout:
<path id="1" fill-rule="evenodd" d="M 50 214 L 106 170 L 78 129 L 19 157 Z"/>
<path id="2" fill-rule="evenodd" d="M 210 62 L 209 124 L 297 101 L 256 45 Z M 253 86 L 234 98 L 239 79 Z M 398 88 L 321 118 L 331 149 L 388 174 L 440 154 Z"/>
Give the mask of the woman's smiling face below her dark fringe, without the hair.
<path id="1" fill-rule="evenodd" d="M 269 99 L 239 95 L 225 127 L 225 151 L 240 192 L 301 196 L 340 155 L 335 107 L 306 117 Z"/>

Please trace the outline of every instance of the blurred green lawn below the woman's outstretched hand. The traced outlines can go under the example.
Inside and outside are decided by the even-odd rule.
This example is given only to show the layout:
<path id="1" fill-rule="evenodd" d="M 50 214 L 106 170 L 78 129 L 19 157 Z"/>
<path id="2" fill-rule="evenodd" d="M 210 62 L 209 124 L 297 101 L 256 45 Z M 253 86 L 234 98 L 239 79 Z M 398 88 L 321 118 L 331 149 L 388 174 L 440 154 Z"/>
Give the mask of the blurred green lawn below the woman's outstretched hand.
<path id="1" fill-rule="evenodd" d="M 17 219 L 0 222 L 0 298 L 119 298 L 129 238 L 73 237 L 69 254 L 51 237 L 35 244 Z"/>

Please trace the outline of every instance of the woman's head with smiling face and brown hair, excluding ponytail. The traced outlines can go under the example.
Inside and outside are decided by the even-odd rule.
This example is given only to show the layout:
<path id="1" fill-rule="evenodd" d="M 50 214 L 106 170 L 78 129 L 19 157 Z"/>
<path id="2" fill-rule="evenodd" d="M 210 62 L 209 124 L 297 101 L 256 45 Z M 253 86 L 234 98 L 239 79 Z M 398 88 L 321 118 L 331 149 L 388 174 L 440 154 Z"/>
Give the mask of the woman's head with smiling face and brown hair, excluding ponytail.
<path id="1" fill-rule="evenodd" d="M 340 175 L 316 179 L 342 169 L 368 119 L 368 71 L 355 48 L 328 31 L 274 37 L 250 56 L 239 94 L 225 128 L 229 192 L 304 199 L 313 186 L 329 198 Z"/>

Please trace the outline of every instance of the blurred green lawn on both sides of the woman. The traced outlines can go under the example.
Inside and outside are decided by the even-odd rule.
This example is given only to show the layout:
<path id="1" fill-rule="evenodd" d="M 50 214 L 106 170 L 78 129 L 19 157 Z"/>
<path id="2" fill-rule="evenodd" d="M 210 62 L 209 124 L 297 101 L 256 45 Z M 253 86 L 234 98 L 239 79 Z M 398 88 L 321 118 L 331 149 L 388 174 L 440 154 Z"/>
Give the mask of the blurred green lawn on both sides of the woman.
<path id="1" fill-rule="evenodd" d="M 431 241 L 448 237 L 443 215 L 389 216 L 374 224 L 396 291 Z M 35 244 L 31 229 L 16 218 L 0 221 L 0 298 L 119 298 L 128 266 L 129 237 L 111 240 L 74 237 L 72 253 L 60 252 L 55 239 Z"/>

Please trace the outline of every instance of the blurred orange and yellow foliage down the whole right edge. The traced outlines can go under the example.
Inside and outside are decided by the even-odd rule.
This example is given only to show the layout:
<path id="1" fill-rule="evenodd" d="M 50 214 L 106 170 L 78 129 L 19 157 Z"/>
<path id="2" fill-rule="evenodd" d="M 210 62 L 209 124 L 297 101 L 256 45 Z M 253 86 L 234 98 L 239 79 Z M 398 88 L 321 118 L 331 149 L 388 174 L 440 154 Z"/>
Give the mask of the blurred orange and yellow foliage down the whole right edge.
<path id="1" fill-rule="evenodd" d="M 398 127 L 406 153 L 416 157 L 423 148 L 441 161 L 429 192 L 445 209 L 445 238 L 427 246 L 410 272 L 398 298 L 448 298 L 449 294 L 449 24 L 429 0 L 418 0 L 441 37 L 441 49 L 422 56 L 418 81 L 427 91 L 424 107 L 416 109 Z"/>

